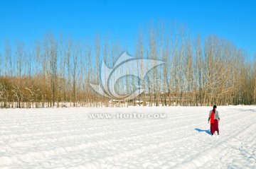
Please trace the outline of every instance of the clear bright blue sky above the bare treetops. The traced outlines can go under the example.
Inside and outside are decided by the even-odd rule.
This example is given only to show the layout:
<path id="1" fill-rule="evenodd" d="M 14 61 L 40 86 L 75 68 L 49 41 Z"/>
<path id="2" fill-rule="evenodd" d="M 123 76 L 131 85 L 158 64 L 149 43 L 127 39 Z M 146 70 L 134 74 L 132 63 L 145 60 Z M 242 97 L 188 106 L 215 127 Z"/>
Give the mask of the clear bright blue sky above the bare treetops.
<path id="1" fill-rule="evenodd" d="M 186 24 L 193 34 L 218 35 L 256 53 L 256 1 L 0 0 L 0 42 L 26 43 L 52 32 L 74 39 L 111 34 L 133 47 L 149 21 Z M 1 45 L 1 44 L 0 44 Z"/>

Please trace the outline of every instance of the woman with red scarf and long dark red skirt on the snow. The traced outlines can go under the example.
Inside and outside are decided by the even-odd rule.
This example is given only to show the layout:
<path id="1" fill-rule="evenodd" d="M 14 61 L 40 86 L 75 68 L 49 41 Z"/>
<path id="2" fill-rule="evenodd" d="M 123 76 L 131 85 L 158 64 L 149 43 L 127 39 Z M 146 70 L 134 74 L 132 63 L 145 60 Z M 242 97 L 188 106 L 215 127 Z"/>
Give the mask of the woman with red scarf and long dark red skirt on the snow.
<path id="1" fill-rule="evenodd" d="M 208 123 L 210 122 L 210 133 L 213 135 L 215 131 L 219 134 L 218 122 L 220 121 L 220 116 L 216 110 L 217 106 L 213 105 L 213 110 L 210 110 Z"/>

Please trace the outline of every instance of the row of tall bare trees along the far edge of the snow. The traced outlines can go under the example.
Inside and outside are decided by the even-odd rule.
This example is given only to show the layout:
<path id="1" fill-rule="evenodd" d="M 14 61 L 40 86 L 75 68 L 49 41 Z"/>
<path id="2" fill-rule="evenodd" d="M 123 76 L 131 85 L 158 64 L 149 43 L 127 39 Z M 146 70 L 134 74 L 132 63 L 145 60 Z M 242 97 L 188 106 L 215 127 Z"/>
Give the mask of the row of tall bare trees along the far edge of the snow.
<path id="1" fill-rule="evenodd" d="M 0 49 L 1 107 L 256 104 L 256 57 L 217 35 L 193 37 L 183 25 L 149 24 L 138 31 L 132 48 L 100 34 L 73 40 L 48 33 L 32 45 L 6 40 Z M 165 64 L 149 71 L 144 81 L 120 78 L 119 93 L 132 93 L 137 85 L 146 90 L 114 103 L 90 82 L 100 83 L 102 60 L 112 67 L 124 51 Z"/>

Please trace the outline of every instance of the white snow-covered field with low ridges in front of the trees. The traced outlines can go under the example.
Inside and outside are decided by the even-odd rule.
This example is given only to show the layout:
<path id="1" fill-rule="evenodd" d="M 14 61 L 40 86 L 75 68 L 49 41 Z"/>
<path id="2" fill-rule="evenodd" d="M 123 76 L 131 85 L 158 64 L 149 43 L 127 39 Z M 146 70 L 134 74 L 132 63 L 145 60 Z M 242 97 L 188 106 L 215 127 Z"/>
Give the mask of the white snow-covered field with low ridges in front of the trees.
<path id="1" fill-rule="evenodd" d="M 256 168 L 256 106 L 219 106 L 219 136 L 210 109 L 0 110 L 0 168 Z M 100 112 L 145 116 L 90 117 Z"/>

